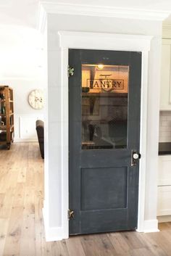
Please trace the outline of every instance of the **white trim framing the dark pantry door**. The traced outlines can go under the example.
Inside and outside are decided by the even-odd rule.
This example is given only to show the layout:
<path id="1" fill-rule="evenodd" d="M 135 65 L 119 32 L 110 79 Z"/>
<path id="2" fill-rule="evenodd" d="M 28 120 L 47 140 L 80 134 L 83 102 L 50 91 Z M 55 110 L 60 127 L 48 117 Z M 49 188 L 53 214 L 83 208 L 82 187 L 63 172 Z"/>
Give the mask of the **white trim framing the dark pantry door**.
<path id="1" fill-rule="evenodd" d="M 147 88 L 149 50 L 152 36 L 120 35 L 107 33 L 80 33 L 75 31 L 59 31 L 62 65 L 62 238 L 69 237 L 67 210 L 69 206 L 69 165 L 68 165 L 68 49 L 102 49 L 115 51 L 141 51 L 141 134 L 140 134 L 140 169 L 139 169 L 139 194 L 138 194 L 138 228 L 144 231 L 144 208 L 146 187 L 146 124 L 147 124 Z"/>

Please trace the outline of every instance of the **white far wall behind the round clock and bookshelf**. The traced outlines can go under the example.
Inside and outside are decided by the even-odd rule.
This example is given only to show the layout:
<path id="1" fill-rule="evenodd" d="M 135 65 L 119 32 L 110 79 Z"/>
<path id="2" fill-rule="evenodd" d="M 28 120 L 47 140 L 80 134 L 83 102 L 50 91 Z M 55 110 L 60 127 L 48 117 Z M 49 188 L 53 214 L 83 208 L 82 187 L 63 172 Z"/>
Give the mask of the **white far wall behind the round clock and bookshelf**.
<path id="1" fill-rule="evenodd" d="M 36 29 L 0 25 L 0 56 L 0 85 L 14 90 L 14 141 L 35 141 L 44 110 L 33 110 L 28 94 L 46 87 L 43 36 Z"/>

